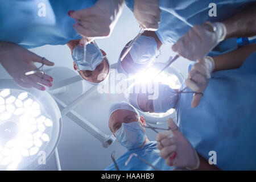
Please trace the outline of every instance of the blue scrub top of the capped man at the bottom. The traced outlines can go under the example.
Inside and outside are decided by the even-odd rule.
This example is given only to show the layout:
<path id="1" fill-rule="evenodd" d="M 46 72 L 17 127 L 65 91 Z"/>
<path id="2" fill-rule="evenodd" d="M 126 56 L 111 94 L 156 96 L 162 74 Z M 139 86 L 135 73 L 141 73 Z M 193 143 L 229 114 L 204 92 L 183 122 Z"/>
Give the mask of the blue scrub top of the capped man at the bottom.
<path id="1" fill-rule="evenodd" d="M 142 148 L 137 148 L 135 150 L 127 150 L 120 158 L 116 160 L 117 166 L 121 171 L 152 171 L 155 170 L 151 166 L 148 166 L 146 163 L 142 162 L 141 159 L 138 159 L 136 156 L 131 158 L 127 166 L 125 166 L 126 160 L 133 153 L 137 154 L 141 158 L 145 159 L 147 162 L 155 166 L 156 168 L 163 171 L 170 171 L 174 167 L 167 166 L 165 159 L 161 158 L 159 155 L 159 150 L 156 148 L 157 142 L 148 142 Z M 114 163 L 104 169 L 105 171 L 115 171 L 116 168 Z"/>

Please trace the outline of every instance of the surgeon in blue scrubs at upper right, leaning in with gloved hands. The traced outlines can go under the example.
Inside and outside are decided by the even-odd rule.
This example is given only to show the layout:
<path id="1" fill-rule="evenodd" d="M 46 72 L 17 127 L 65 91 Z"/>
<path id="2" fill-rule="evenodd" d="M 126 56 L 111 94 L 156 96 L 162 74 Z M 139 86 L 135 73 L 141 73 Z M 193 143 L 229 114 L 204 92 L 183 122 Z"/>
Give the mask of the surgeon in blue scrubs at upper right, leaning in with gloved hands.
<path id="1" fill-rule="evenodd" d="M 217 56 L 233 51 L 237 48 L 237 37 L 256 35 L 255 0 L 149 1 L 154 0 L 126 0 L 127 7 L 134 12 L 140 26 L 147 28 L 125 58 L 118 60 L 119 73 L 142 71 L 158 56 L 162 44 L 173 45 L 172 50 L 180 56 L 196 60 L 206 55 Z M 216 4 L 217 16 L 209 16 L 210 3 Z M 151 11 L 154 14 L 147 16 Z M 208 28 L 201 25 L 205 22 L 208 22 Z M 149 44 L 152 51 L 147 51 Z M 120 57 L 127 45 L 129 43 Z"/>

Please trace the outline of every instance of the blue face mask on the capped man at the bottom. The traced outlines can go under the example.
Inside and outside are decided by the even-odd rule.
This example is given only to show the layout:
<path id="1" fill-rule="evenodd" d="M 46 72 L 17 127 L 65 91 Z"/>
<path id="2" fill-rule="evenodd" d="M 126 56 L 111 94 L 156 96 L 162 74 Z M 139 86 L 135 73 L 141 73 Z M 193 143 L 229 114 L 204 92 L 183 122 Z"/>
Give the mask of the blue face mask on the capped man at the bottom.
<path id="1" fill-rule="evenodd" d="M 118 142 L 128 150 L 139 148 L 145 141 L 145 133 L 141 123 L 138 121 L 122 123 L 122 126 L 115 132 Z"/>

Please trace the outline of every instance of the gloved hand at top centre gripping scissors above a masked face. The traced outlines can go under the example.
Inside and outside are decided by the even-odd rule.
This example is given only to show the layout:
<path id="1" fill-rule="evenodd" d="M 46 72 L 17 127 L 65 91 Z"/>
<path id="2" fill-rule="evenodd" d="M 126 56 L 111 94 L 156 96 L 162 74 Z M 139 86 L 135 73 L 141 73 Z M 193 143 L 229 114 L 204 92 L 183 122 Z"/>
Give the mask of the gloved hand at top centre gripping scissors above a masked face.
<path id="1" fill-rule="evenodd" d="M 134 16 L 139 25 L 148 31 L 156 31 L 159 27 L 159 0 L 134 0 Z"/>

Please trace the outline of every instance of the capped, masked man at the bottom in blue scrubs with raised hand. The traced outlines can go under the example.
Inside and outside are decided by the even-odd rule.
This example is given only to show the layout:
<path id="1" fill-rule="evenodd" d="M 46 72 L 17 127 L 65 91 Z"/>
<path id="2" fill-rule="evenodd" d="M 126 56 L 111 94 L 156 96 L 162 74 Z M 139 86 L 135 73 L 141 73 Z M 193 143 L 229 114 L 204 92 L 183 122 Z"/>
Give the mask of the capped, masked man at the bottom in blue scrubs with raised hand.
<path id="1" fill-rule="evenodd" d="M 199 158 L 188 140 L 183 137 L 179 130 L 176 130 L 177 127 L 174 122 L 170 123 L 170 125 L 170 128 L 175 130 L 171 133 L 179 137 L 175 139 L 177 147 L 183 150 L 183 154 L 180 154 L 182 160 L 177 165 L 178 167 L 187 167 L 188 169 L 217 169 L 216 167 L 210 166 L 207 160 L 201 157 Z M 160 157 L 162 154 L 156 148 L 156 142 L 148 140 L 144 126 L 146 126 L 145 119 L 129 103 L 119 102 L 110 107 L 109 129 L 113 132 L 118 142 L 127 148 L 125 154 L 116 160 L 118 168 L 123 171 L 154 170 L 154 168 L 135 156 L 130 159 L 126 166 L 125 163 L 129 159 L 129 156 L 135 153 L 160 170 L 169 171 L 174 169 L 174 167 L 167 166 L 164 159 Z M 168 132 L 171 134 L 170 131 Z M 175 158 L 175 156 L 176 153 L 174 152 L 170 157 Z M 110 164 L 105 170 L 116 170 L 114 163 Z"/>

